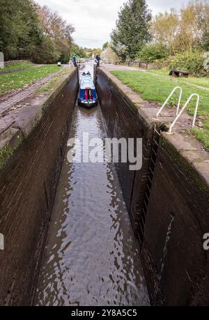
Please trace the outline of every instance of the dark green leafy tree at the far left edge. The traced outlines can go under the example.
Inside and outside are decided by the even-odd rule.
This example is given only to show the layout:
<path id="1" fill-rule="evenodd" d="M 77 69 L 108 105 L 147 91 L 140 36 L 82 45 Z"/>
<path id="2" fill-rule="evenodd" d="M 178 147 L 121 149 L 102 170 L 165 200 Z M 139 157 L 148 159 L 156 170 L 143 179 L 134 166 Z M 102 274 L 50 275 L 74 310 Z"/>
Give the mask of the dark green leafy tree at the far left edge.
<path id="1" fill-rule="evenodd" d="M 0 50 L 5 59 L 32 59 L 42 41 L 37 6 L 31 0 L 0 0 Z"/>

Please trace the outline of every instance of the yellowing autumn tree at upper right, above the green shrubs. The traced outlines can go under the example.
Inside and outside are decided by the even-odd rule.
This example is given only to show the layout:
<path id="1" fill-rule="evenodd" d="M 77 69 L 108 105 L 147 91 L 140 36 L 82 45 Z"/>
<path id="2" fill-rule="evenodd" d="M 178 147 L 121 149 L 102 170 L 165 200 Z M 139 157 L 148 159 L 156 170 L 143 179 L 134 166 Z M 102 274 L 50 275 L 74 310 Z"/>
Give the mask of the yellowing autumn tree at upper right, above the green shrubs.
<path id="1" fill-rule="evenodd" d="M 190 1 L 187 6 L 155 16 L 151 32 L 154 43 L 167 45 L 171 55 L 209 48 L 208 0 Z"/>

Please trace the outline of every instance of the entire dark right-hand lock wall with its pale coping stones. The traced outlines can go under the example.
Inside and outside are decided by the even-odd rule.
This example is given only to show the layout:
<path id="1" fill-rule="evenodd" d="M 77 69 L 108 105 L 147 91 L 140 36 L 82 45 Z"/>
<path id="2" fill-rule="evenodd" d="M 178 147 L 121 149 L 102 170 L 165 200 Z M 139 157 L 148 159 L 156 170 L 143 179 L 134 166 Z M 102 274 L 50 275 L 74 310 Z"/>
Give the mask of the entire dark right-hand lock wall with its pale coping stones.
<path id="1" fill-rule="evenodd" d="M 130 213 L 152 305 L 208 305 L 209 155 L 184 127 L 162 132 L 173 120 L 156 119 L 157 107 L 107 70 L 98 70 L 97 88 L 109 137 L 142 137 L 143 166 L 118 175 Z M 156 130 L 155 130 L 156 129 Z M 160 144 L 159 144 L 160 139 Z M 159 146 L 158 146 L 159 144 Z"/>

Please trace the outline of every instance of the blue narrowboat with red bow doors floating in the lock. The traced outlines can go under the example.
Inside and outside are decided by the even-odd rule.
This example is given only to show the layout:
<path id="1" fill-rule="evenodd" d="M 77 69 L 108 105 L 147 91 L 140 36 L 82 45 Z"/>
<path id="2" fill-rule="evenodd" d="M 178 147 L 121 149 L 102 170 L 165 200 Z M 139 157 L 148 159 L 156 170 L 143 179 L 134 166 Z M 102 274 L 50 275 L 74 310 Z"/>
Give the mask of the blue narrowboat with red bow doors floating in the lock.
<path id="1" fill-rule="evenodd" d="M 91 78 L 91 73 L 83 73 L 79 88 L 78 104 L 82 107 L 91 108 L 98 105 L 98 95 Z"/>

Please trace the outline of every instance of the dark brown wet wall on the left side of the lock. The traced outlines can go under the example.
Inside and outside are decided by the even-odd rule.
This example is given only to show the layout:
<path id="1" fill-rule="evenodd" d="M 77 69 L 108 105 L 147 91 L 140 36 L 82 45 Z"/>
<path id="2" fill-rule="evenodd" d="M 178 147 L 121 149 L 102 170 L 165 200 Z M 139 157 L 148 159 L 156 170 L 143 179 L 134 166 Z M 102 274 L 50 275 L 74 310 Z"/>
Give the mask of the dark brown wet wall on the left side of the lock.
<path id="1" fill-rule="evenodd" d="M 40 119 L 36 123 L 34 118 L 34 128 L 1 172 L 0 232 L 5 250 L 0 251 L 0 305 L 33 301 L 77 90 L 74 70 L 44 105 L 36 99 Z"/>

